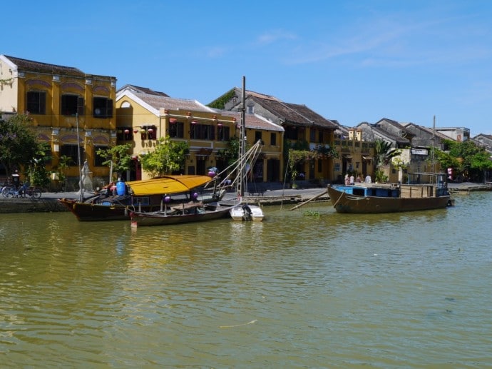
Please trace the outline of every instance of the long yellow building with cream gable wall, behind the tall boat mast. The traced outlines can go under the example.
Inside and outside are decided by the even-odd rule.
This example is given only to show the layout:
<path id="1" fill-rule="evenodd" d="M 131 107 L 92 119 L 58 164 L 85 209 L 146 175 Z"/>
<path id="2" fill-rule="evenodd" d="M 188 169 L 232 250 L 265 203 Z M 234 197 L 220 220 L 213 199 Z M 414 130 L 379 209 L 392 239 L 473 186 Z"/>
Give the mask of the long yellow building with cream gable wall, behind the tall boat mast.
<path id="1" fill-rule="evenodd" d="M 163 92 L 127 85 L 116 95 L 118 144 L 130 143 L 133 169 L 127 180 L 148 178 L 140 158 L 153 151 L 159 138 L 188 143 L 190 153 L 185 158 L 185 174 L 207 174 L 208 168 L 227 168 L 221 157 L 230 138 L 238 135 L 240 114 L 217 111 L 195 100 L 170 98 Z M 246 120 L 247 141 L 265 141 L 255 168 L 258 181 L 267 181 L 269 165 L 282 156 L 283 128 L 264 118 L 250 116 Z M 278 166 L 280 172 L 280 165 Z M 277 174 L 278 175 L 278 174 Z"/>

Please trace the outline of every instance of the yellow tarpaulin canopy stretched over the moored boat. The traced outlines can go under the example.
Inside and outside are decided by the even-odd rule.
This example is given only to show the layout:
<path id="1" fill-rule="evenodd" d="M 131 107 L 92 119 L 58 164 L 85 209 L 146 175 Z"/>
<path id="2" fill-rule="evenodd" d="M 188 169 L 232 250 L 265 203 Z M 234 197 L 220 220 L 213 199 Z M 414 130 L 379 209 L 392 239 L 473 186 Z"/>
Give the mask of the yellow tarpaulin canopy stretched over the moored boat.
<path id="1" fill-rule="evenodd" d="M 126 184 L 137 196 L 164 195 L 190 191 L 212 181 L 209 176 L 163 176 L 160 178 L 130 181 Z"/>

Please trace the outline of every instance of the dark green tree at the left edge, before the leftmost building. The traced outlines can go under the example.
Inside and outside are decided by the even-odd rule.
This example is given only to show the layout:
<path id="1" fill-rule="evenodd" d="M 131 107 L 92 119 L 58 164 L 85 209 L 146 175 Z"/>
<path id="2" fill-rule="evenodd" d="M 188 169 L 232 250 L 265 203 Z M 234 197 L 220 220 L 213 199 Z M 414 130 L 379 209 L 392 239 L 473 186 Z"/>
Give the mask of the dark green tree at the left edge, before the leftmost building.
<path id="1" fill-rule="evenodd" d="M 0 120 L 0 163 L 6 169 L 7 176 L 16 169 L 29 166 L 33 158 L 38 158 L 43 151 L 31 126 L 32 119 L 26 114 Z"/>

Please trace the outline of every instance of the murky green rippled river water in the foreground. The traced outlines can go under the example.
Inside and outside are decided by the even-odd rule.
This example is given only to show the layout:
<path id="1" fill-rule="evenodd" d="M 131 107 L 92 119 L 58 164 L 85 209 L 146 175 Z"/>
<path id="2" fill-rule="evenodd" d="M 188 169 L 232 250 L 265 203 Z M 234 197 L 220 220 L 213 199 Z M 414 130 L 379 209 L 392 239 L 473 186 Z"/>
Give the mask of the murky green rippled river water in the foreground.
<path id="1" fill-rule="evenodd" d="M 0 367 L 492 367 L 492 193 L 289 207 L 136 230 L 1 214 Z"/>

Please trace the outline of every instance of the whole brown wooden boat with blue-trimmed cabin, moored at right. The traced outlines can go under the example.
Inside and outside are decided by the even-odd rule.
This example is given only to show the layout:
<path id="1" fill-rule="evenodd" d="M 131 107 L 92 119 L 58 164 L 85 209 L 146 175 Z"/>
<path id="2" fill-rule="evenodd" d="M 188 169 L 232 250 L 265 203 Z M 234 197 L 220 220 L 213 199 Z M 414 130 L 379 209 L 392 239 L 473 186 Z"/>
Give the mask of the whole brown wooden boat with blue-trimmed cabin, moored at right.
<path id="1" fill-rule="evenodd" d="M 445 174 L 411 174 L 419 176 L 418 178 L 431 176 L 435 180 L 430 181 L 431 183 L 356 183 L 352 186 L 329 186 L 329 198 L 338 213 L 396 213 L 453 205 Z"/>

